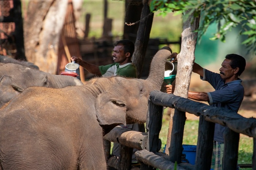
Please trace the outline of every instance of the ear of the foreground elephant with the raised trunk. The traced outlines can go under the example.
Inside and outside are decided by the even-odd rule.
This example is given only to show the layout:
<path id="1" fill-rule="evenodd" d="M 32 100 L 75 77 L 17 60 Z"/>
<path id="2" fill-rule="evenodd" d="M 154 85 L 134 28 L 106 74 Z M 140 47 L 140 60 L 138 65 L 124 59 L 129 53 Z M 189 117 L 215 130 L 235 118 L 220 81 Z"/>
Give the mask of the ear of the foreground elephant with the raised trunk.
<path id="1" fill-rule="evenodd" d="M 100 125 L 126 125 L 126 104 L 116 100 L 111 94 L 99 94 L 95 103 L 95 109 Z"/>

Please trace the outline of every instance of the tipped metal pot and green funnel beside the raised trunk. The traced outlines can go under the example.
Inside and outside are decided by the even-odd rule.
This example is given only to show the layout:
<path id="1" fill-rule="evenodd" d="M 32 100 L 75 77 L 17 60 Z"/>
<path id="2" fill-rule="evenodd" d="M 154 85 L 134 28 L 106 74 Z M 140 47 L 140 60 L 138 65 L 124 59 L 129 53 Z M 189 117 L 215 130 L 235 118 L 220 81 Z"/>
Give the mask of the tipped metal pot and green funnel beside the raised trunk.
<path id="1" fill-rule="evenodd" d="M 177 64 L 177 63 L 175 63 Z M 165 62 L 165 77 L 163 78 L 163 81 L 165 81 L 167 84 L 172 84 L 172 82 L 175 80 L 177 73 L 177 69 L 174 67 L 174 63 L 170 61 Z"/>

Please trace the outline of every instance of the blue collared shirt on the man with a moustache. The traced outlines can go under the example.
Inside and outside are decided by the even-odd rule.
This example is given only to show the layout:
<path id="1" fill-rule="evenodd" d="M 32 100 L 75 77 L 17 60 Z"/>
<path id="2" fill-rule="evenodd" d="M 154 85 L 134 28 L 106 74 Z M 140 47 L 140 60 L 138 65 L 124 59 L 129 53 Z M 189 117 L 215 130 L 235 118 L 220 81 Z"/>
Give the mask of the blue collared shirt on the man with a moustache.
<path id="1" fill-rule="evenodd" d="M 208 92 L 209 104 L 214 107 L 226 108 L 235 113 L 238 112 L 242 100 L 244 99 L 244 87 L 241 85 L 242 80 L 234 80 L 225 84 L 220 74 L 213 73 L 204 69 L 202 80 L 208 81 L 215 89 Z M 225 127 L 215 124 L 214 140 L 224 143 L 223 132 Z"/>

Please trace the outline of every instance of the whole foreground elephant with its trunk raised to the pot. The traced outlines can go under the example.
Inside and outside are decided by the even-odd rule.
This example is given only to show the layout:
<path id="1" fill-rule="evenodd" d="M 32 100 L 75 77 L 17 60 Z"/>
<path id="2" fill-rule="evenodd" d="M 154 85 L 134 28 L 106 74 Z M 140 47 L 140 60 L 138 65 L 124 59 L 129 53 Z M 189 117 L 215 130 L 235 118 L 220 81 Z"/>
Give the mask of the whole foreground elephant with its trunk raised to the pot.
<path id="1" fill-rule="evenodd" d="M 170 54 L 169 47 L 155 54 L 146 80 L 101 77 L 24 90 L 0 109 L 0 169 L 106 170 L 102 134 L 146 122 L 148 97 L 160 90 Z"/>

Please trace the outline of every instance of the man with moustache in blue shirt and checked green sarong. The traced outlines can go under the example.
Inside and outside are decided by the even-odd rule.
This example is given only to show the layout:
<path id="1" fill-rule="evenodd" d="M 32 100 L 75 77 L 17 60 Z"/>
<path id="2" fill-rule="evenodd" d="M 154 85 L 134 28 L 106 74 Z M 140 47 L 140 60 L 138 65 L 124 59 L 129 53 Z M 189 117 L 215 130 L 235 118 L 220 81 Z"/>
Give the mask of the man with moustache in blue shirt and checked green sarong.
<path id="1" fill-rule="evenodd" d="M 238 78 L 245 69 L 245 59 L 237 54 L 226 55 L 219 69 L 220 73 L 213 73 L 204 69 L 197 63 L 193 65 L 193 72 L 200 75 L 204 81 L 208 81 L 215 89 L 213 92 L 188 92 L 188 98 L 197 101 L 207 101 L 214 107 L 227 108 L 238 112 L 244 98 L 244 87 L 242 80 Z M 172 85 L 166 85 L 167 93 L 172 93 Z M 212 152 L 211 169 L 222 169 L 222 158 L 224 152 L 223 132 L 225 127 L 215 124 L 214 129 L 214 148 Z"/>

